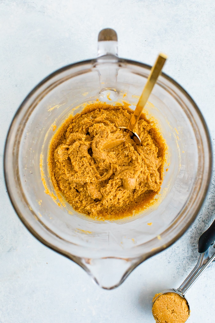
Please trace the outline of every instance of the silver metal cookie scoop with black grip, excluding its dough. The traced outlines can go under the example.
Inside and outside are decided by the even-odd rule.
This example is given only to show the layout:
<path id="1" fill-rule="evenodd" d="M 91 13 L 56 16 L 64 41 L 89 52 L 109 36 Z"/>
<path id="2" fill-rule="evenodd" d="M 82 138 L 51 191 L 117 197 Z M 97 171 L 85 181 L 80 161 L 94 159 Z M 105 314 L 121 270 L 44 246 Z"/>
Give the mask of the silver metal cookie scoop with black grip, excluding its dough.
<path id="1" fill-rule="evenodd" d="M 183 283 L 179 288 L 166 289 L 161 294 L 159 294 L 155 299 L 153 299 L 152 307 L 155 301 L 161 295 L 166 293 L 176 293 L 186 299 L 186 297 L 184 296 L 185 293 L 192 286 L 192 284 L 197 280 L 197 278 L 199 278 L 199 276 L 204 272 L 204 270 L 212 263 L 212 261 L 214 261 L 215 259 L 214 243 L 215 243 L 215 220 L 208 228 L 208 230 L 206 230 L 199 238 L 198 251 L 200 253 L 200 256 L 196 266 L 193 268 L 191 273 L 187 276 L 187 278 L 183 281 Z M 188 301 L 187 301 L 187 305 L 189 307 L 189 314 L 190 314 L 190 306 Z"/>

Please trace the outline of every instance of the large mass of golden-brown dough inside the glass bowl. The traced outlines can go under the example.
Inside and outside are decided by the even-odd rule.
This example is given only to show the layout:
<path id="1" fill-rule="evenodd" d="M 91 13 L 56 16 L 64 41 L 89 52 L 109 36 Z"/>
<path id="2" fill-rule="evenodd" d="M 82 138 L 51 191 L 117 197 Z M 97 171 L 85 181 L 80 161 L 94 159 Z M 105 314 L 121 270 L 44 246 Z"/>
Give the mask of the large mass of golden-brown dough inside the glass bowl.
<path id="1" fill-rule="evenodd" d="M 133 110 L 97 102 L 57 130 L 48 166 L 54 189 L 74 210 L 97 219 L 131 215 L 153 200 L 162 183 L 165 143 L 142 114 L 137 146 L 119 126 Z"/>

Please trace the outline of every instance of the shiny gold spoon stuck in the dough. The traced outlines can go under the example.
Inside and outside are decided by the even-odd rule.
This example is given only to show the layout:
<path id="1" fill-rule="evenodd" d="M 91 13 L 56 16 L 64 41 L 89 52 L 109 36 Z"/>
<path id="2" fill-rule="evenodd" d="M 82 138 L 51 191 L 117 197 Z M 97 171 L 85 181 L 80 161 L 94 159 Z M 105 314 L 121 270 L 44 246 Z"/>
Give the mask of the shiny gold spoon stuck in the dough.
<path id="1" fill-rule="evenodd" d="M 137 103 L 136 109 L 134 110 L 134 113 L 132 114 L 131 120 L 129 122 L 128 127 L 118 127 L 120 129 L 125 129 L 127 132 L 129 132 L 132 139 L 136 142 L 137 145 L 141 145 L 140 137 L 136 132 L 134 132 L 134 127 L 137 124 L 137 121 L 139 120 L 142 110 L 144 106 L 146 105 L 146 102 L 151 94 L 151 91 L 161 74 L 161 70 L 163 68 L 163 65 L 167 59 L 167 56 L 165 54 L 159 54 L 157 57 L 157 60 L 154 64 L 154 66 L 151 68 L 151 72 L 149 74 L 149 77 L 147 79 L 146 85 L 142 91 L 141 97 Z"/>

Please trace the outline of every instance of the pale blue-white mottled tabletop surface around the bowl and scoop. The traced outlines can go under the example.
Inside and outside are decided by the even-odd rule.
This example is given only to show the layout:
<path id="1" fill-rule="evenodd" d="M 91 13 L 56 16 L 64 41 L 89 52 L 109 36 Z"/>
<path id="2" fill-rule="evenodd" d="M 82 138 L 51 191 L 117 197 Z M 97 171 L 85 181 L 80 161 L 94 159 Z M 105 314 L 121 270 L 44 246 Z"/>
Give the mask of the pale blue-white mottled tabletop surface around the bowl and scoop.
<path id="1" fill-rule="evenodd" d="M 164 72 L 196 101 L 214 145 L 214 12 L 213 0 L 0 0 L 0 323 L 153 323 L 153 295 L 178 287 L 195 265 L 199 235 L 214 219 L 214 172 L 186 234 L 106 291 L 25 229 L 9 202 L 2 160 L 9 124 L 28 92 L 52 71 L 95 57 L 105 27 L 117 31 L 121 57 L 152 65 L 158 52 L 168 54 Z M 214 275 L 215 264 L 187 293 L 189 323 L 214 321 Z"/>

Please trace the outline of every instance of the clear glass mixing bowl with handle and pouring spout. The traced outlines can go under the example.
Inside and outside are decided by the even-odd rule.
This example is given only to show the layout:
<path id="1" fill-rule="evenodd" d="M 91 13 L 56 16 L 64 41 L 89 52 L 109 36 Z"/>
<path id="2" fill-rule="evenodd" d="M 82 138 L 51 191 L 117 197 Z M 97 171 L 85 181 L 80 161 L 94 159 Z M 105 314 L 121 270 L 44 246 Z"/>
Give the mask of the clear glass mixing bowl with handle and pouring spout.
<path id="1" fill-rule="evenodd" d="M 118 58 L 113 30 L 103 30 L 98 40 L 97 58 L 57 70 L 23 101 L 7 135 L 4 170 L 11 202 L 27 229 L 75 261 L 101 287 L 111 289 L 188 229 L 205 199 L 212 158 L 198 107 L 162 73 L 144 109 L 149 119 L 156 120 L 168 147 L 156 203 L 130 218 L 102 222 L 58 201 L 47 169 L 55 128 L 96 99 L 111 104 L 126 101 L 134 109 L 151 69 Z"/>

